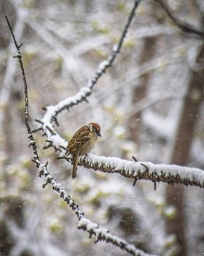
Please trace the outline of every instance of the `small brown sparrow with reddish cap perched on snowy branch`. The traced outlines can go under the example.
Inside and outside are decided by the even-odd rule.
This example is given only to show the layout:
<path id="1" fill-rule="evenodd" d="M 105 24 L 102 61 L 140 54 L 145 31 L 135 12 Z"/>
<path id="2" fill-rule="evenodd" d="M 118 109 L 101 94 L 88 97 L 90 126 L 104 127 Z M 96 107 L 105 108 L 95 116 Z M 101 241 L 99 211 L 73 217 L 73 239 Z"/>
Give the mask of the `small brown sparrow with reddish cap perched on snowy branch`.
<path id="1" fill-rule="evenodd" d="M 92 151 L 98 137 L 101 137 L 101 127 L 99 124 L 91 122 L 78 129 L 69 140 L 67 155 L 71 154 L 72 157 L 72 178 L 76 178 L 79 157 Z"/>

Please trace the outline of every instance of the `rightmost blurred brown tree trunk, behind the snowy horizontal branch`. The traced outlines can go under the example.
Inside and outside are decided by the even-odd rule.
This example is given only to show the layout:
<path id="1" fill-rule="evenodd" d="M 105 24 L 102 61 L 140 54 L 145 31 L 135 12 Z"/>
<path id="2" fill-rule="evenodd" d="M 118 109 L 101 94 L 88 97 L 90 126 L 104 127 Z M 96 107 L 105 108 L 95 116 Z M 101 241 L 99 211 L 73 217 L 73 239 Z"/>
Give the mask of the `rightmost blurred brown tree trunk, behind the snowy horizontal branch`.
<path id="1" fill-rule="evenodd" d="M 200 51 L 198 61 L 203 62 L 204 46 Z M 201 64 L 200 66 L 202 66 Z M 195 125 L 199 120 L 199 108 L 203 101 L 204 69 L 192 72 L 189 89 L 184 99 L 183 110 L 178 124 L 176 142 L 173 148 L 171 162 L 176 165 L 188 165 L 189 154 L 195 134 Z M 179 245 L 176 256 L 187 255 L 187 240 L 185 237 L 184 216 L 184 186 L 168 186 L 166 192 L 168 205 L 176 208 L 176 217 L 168 220 L 168 232 L 174 233 Z"/>

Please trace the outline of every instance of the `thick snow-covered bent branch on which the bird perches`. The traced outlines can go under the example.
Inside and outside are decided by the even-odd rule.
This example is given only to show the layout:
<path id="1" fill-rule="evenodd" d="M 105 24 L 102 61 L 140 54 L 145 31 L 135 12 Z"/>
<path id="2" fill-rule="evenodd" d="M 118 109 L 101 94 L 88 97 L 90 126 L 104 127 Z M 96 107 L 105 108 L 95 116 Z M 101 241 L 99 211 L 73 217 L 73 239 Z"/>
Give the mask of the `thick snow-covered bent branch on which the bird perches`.
<path id="1" fill-rule="evenodd" d="M 97 83 L 101 75 L 106 72 L 106 69 L 111 66 L 117 53 L 119 53 L 119 50 L 122 48 L 122 42 L 133 20 L 133 15 L 139 2 L 140 1 L 135 1 L 134 3 L 133 10 L 127 18 L 127 23 L 125 24 L 125 29 L 122 31 L 119 42 L 117 45 L 114 45 L 110 56 L 99 64 L 98 70 L 95 72 L 93 78 L 88 81 L 87 86 L 83 87 L 75 96 L 68 97 L 58 102 L 57 105 L 44 108 L 46 113 L 44 117 L 38 121 L 39 127 L 37 127 L 36 130 L 42 129 L 48 138 L 44 148 L 53 146 L 55 151 L 60 151 L 59 158 L 66 158 L 67 142 L 63 140 L 63 138 L 60 138 L 60 135 L 55 132 L 52 125 L 53 121 L 58 124 L 56 118 L 60 112 L 74 105 L 78 105 L 82 101 L 87 101 L 87 97 L 92 93 L 93 86 L 95 86 L 95 83 Z M 70 159 L 67 160 L 70 161 Z M 154 165 L 150 162 L 140 163 L 113 157 L 97 157 L 93 154 L 89 154 L 87 157 L 81 157 L 79 164 L 106 173 L 119 173 L 126 178 L 133 178 L 135 181 L 145 179 L 154 182 L 162 181 L 168 184 L 185 184 L 187 186 L 204 187 L 204 171 L 197 168 L 181 167 L 178 165 Z"/>

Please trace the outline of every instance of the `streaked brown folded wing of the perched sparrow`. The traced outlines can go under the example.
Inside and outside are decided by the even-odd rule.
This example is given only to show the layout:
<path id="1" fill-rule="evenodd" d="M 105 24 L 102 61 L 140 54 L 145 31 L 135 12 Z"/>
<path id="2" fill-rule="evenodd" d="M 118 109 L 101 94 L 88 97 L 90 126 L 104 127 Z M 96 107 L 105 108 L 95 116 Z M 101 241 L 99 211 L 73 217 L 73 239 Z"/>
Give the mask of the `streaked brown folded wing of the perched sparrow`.
<path id="1" fill-rule="evenodd" d="M 69 154 L 76 153 L 79 148 L 81 148 L 82 144 L 90 139 L 89 133 L 90 130 L 87 127 L 82 127 L 76 131 L 71 140 L 68 142 L 67 149 Z"/>

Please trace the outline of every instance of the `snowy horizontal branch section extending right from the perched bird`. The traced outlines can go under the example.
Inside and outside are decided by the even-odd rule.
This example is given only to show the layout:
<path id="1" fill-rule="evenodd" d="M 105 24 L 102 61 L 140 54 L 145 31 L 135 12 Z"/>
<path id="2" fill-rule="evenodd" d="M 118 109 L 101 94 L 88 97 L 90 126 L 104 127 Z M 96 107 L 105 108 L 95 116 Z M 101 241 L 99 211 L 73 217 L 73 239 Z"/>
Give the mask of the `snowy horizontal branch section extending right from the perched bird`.
<path id="1" fill-rule="evenodd" d="M 79 158 L 79 165 L 105 173 L 119 173 L 125 178 L 184 184 L 204 188 L 204 170 L 179 165 L 155 165 L 152 162 L 135 162 L 117 157 L 98 157 L 94 154 Z"/>

